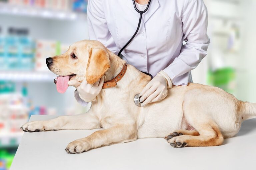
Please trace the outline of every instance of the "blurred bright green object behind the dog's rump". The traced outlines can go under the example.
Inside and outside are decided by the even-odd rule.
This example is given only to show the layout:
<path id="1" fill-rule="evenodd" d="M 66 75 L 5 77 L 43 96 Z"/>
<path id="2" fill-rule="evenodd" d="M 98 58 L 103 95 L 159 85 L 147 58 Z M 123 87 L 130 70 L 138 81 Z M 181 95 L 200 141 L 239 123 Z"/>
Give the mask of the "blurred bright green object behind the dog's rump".
<path id="1" fill-rule="evenodd" d="M 235 69 L 231 67 L 208 71 L 208 83 L 222 88 L 228 93 L 234 93 Z"/>

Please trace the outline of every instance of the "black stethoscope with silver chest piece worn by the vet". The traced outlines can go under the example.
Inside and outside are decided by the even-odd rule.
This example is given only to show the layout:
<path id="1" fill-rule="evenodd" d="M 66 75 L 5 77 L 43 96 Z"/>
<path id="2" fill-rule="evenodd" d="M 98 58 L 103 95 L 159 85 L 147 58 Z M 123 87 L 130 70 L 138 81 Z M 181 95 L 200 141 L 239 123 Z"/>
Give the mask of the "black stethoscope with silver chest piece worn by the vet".
<path id="1" fill-rule="evenodd" d="M 140 19 L 139 19 L 139 23 L 138 23 L 138 27 L 137 27 L 137 30 L 135 31 L 135 33 L 133 34 L 132 38 L 123 46 L 123 48 L 121 48 L 121 50 L 119 51 L 118 53 L 118 56 L 120 56 L 121 52 L 127 47 L 127 45 L 129 45 L 130 42 L 132 42 L 132 40 L 134 39 L 134 37 L 136 36 L 136 34 L 138 33 L 139 29 L 140 29 L 140 23 L 141 23 L 141 20 L 142 20 L 142 15 L 147 12 L 148 8 L 149 8 L 149 5 L 150 5 L 150 2 L 151 0 L 148 1 L 148 5 L 146 7 L 146 9 L 144 11 L 140 11 L 138 10 L 137 6 L 136 6 L 136 3 L 135 3 L 135 0 L 132 0 L 133 2 L 133 6 L 134 6 L 134 9 L 140 14 Z M 142 71 L 143 72 L 143 71 Z M 149 75 L 151 77 L 151 79 L 153 78 L 153 76 L 149 73 L 146 73 L 146 72 L 143 72 L 147 75 Z M 141 96 L 139 94 L 137 94 L 136 96 L 134 96 L 134 103 L 135 105 L 141 107 L 141 104 L 142 102 L 140 102 L 140 98 Z"/>

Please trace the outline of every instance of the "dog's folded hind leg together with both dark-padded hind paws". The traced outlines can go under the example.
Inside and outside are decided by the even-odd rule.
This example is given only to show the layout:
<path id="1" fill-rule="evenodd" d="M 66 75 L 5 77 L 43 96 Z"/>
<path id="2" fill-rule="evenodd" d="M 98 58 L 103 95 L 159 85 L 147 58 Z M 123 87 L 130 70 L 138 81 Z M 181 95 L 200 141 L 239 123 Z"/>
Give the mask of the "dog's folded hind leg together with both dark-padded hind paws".
<path id="1" fill-rule="evenodd" d="M 218 146 L 223 143 L 224 137 L 212 119 L 212 103 L 204 98 L 205 94 L 201 91 L 197 92 L 187 93 L 183 102 L 184 117 L 194 130 L 176 130 L 176 133 L 168 135 L 167 141 L 173 147 Z"/>

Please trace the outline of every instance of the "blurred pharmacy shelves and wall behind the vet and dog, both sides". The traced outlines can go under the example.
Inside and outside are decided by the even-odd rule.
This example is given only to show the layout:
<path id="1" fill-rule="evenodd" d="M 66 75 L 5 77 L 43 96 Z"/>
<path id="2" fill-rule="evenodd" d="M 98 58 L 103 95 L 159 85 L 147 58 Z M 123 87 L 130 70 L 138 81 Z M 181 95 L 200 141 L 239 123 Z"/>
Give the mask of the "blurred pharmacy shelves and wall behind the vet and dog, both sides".
<path id="1" fill-rule="evenodd" d="M 220 87 L 256 103 L 256 1 L 204 0 L 208 55 L 192 71 L 195 83 Z M 30 115 L 86 112 L 74 88 L 56 91 L 45 58 L 88 39 L 86 0 L 0 0 L 0 170 L 10 167 Z M 137 20 L 136 20 L 137 22 Z"/>

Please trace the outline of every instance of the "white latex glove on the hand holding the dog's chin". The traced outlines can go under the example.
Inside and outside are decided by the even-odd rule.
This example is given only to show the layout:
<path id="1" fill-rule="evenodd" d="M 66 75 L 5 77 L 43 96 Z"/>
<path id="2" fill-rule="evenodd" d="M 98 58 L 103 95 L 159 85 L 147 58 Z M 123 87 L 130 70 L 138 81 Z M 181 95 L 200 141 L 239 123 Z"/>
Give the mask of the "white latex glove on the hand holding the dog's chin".
<path id="1" fill-rule="evenodd" d="M 77 80 L 70 80 L 68 82 L 68 85 L 74 86 L 78 93 L 79 97 L 85 101 L 85 102 L 91 102 L 96 99 L 96 96 L 100 94 L 100 91 L 102 89 L 103 83 L 104 83 L 105 77 L 101 77 L 96 83 L 94 84 L 88 84 L 86 79 L 80 83 Z"/>

